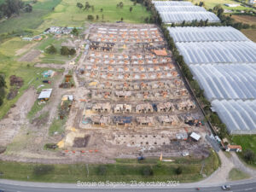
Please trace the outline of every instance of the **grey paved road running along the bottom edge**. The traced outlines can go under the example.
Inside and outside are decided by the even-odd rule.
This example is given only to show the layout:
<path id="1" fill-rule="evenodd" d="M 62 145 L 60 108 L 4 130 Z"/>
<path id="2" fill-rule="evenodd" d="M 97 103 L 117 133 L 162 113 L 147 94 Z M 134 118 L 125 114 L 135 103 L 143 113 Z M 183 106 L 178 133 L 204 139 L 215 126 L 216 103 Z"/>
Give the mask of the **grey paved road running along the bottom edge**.
<path id="1" fill-rule="evenodd" d="M 131 187 L 129 185 L 125 187 L 112 188 L 112 187 L 78 187 L 75 184 L 61 184 L 61 183 L 25 183 L 25 182 L 14 182 L 14 184 L 10 184 L 9 182 L 2 182 L 0 180 L 0 189 L 4 192 L 110 192 L 110 191 L 121 191 L 121 192 L 190 192 L 197 191 L 195 187 L 187 187 L 189 184 L 181 184 L 177 187 Z M 200 186 L 198 186 L 200 187 Z M 223 191 L 220 186 L 212 186 L 212 187 L 200 187 L 200 191 L 205 192 L 217 192 Z M 256 191 L 256 180 L 250 181 L 250 183 L 236 183 L 231 182 L 231 190 L 233 192 L 255 192 Z"/>

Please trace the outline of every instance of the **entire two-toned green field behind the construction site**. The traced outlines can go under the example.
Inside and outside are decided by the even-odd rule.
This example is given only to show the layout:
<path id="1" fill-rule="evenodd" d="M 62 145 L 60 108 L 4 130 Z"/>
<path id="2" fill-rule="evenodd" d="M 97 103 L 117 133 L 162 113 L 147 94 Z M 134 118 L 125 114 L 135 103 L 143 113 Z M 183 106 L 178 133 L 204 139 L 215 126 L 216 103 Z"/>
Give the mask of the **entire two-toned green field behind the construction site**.
<path id="1" fill-rule="evenodd" d="M 33 4 L 32 13 L 21 13 L 18 17 L 3 20 L 0 23 L 0 33 L 21 32 L 25 30 L 38 30 L 43 32 L 49 26 L 84 26 L 87 15 L 99 15 L 99 21 L 115 22 L 123 17 L 125 22 L 141 23 L 149 12 L 141 4 L 133 6 L 130 0 L 123 0 L 124 8 L 117 9 L 119 0 L 88 0 L 90 5 L 94 5 L 94 12 L 80 10 L 77 3 L 85 3 L 79 0 L 40 0 Z M 130 12 L 130 7 L 133 8 Z M 53 8 L 55 8 L 53 10 Z M 103 12 L 100 12 L 103 9 Z M 104 15 L 104 19 L 102 19 Z"/>

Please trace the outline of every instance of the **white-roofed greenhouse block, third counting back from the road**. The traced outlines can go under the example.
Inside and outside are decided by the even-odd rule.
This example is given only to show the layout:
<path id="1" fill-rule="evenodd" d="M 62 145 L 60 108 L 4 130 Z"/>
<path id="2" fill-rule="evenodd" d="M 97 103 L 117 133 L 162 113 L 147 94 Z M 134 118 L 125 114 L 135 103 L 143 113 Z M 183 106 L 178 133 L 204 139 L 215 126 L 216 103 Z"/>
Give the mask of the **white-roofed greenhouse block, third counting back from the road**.
<path id="1" fill-rule="evenodd" d="M 251 41 L 176 43 L 176 45 L 188 65 L 256 62 L 256 44 Z"/>

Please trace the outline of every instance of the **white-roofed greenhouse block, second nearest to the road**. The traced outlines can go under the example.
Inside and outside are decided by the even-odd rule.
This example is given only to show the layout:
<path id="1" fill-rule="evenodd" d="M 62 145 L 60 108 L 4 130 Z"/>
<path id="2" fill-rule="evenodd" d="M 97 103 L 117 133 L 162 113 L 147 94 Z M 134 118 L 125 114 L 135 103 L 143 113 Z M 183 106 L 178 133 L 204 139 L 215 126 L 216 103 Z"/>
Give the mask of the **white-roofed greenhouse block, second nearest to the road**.
<path id="1" fill-rule="evenodd" d="M 256 64 L 190 65 L 209 101 L 256 99 Z"/>

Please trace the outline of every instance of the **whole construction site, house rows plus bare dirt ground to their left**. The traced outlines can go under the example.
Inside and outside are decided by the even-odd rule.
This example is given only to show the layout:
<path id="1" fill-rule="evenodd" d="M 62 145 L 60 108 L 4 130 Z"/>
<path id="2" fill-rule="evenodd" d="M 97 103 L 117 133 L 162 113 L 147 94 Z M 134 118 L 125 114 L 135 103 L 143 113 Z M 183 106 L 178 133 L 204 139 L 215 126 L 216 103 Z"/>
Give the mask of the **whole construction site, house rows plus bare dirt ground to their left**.
<path id="1" fill-rule="evenodd" d="M 141 155 L 208 156 L 209 130 L 158 26 L 90 24 L 82 37 L 69 39 L 80 55 L 77 63 L 63 65 L 52 89 L 29 95 L 46 105 L 37 118 L 15 129 L 12 119 L 3 119 L 9 137 L 2 143 L 14 139 L 4 160 L 107 163 Z M 49 132 L 54 119 L 66 119 L 62 131 Z"/>

